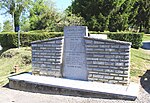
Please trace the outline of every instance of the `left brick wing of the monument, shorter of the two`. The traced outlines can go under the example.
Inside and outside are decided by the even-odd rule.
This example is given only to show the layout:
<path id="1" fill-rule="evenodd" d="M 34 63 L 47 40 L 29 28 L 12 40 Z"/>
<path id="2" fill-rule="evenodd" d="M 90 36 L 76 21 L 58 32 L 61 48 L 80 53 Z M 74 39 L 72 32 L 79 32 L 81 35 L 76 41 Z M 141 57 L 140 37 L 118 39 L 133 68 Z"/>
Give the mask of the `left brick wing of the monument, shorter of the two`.
<path id="1" fill-rule="evenodd" d="M 33 74 L 61 77 L 62 45 L 62 37 L 32 42 Z"/>

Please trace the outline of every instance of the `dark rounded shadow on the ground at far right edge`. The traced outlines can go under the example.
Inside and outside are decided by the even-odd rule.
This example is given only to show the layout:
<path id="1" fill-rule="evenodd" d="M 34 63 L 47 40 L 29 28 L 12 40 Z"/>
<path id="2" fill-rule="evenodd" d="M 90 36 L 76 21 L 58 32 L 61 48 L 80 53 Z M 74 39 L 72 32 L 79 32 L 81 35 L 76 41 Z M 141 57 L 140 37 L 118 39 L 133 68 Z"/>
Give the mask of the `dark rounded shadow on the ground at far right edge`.
<path id="1" fill-rule="evenodd" d="M 140 83 L 145 91 L 150 94 L 150 70 L 147 70 L 146 73 L 141 77 Z"/>

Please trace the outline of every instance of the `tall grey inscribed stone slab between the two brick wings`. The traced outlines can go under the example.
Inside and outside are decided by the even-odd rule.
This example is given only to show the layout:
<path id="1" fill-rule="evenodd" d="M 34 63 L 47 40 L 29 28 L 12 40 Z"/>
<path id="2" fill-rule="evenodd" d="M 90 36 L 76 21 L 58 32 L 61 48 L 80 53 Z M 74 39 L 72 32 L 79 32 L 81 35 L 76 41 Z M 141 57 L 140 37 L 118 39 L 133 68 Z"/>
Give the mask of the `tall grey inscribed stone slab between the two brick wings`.
<path id="1" fill-rule="evenodd" d="M 71 26 L 64 28 L 63 77 L 88 80 L 84 37 L 87 27 Z"/>

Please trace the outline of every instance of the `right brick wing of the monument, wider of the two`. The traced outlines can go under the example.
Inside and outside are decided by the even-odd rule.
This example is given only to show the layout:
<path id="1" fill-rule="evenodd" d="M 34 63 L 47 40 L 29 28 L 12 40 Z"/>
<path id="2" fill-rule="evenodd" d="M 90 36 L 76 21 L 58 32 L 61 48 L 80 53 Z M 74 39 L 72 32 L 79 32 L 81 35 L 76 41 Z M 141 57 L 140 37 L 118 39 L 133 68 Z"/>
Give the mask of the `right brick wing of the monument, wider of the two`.
<path id="1" fill-rule="evenodd" d="M 129 83 L 130 43 L 85 37 L 85 44 L 88 80 Z"/>

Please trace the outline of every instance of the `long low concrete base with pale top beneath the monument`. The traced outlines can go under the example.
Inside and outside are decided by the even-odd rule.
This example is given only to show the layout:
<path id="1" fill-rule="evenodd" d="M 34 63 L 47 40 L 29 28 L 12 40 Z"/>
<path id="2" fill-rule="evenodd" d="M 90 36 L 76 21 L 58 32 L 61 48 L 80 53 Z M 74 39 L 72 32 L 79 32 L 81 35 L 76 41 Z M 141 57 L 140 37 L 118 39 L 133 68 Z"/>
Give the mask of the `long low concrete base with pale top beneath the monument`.
<path id="1" fill-rule="evenodd" d="M 9 87 L 30 92 L 127 100 L 135 100 L 139 91 L 139 85 L 136 83 L 130 83 L 129 86 L 122 86 L 34 76 L 29 73 L 9 77 Z"/>

